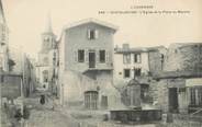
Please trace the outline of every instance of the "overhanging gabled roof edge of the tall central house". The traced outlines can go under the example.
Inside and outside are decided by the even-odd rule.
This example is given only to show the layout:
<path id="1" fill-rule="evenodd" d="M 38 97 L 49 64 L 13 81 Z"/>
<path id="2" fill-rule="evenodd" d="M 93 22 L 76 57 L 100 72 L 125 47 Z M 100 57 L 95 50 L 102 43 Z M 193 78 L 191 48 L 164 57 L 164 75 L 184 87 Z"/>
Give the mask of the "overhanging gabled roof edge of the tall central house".
<path id="1" fill-rule="evenodd" d="M 106 22 L 103 22 L 103 21 L 100 21 L 100 20 L 97 20 L 97 19 L 92 19 L 92 18 L 86 19 L 86 20 L 81 20 L 81 21 L 75 22 L 72 24 L 66 25 L 64 28 L 68 30 L 68 28 L 76 27 L 76 26 L 79 26 L 79 25 L 82 25 L 82 24 L 87 24 L 87 23 L 96 23 L 96 24 L 99 24 L 99 25 L 112 28 L 114 31 L 119 30 L 117 26 L 115 26 L 115 25 L 113 25 L 111 23 L 106 23 Z"/>

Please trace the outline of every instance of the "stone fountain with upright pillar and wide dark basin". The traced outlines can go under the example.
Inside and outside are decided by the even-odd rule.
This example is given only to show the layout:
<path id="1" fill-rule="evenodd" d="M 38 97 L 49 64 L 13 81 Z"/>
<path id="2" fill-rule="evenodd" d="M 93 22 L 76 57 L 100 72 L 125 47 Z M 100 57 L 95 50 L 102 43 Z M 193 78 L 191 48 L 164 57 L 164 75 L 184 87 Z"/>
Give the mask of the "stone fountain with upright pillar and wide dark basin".
<path id="1" fill-rule="evenodd" d="M 141 105 L 141 84 L 133 79 L 125 89 L 126 109 L 110 111 L 111 120 L 122 123 L 153 123 L 161 120 L 160 109 L 144 109 Z"/>

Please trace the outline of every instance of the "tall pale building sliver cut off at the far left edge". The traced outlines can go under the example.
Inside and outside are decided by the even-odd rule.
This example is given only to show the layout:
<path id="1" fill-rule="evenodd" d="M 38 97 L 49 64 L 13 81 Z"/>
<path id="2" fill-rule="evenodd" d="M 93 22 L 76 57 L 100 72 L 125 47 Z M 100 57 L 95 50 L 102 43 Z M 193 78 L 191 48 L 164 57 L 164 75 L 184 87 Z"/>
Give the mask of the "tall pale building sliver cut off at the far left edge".
<path id="1" fill-rule="evenodd" d="M 0 69 L 9 71 L 9 28 L 0 0 Z"/>

